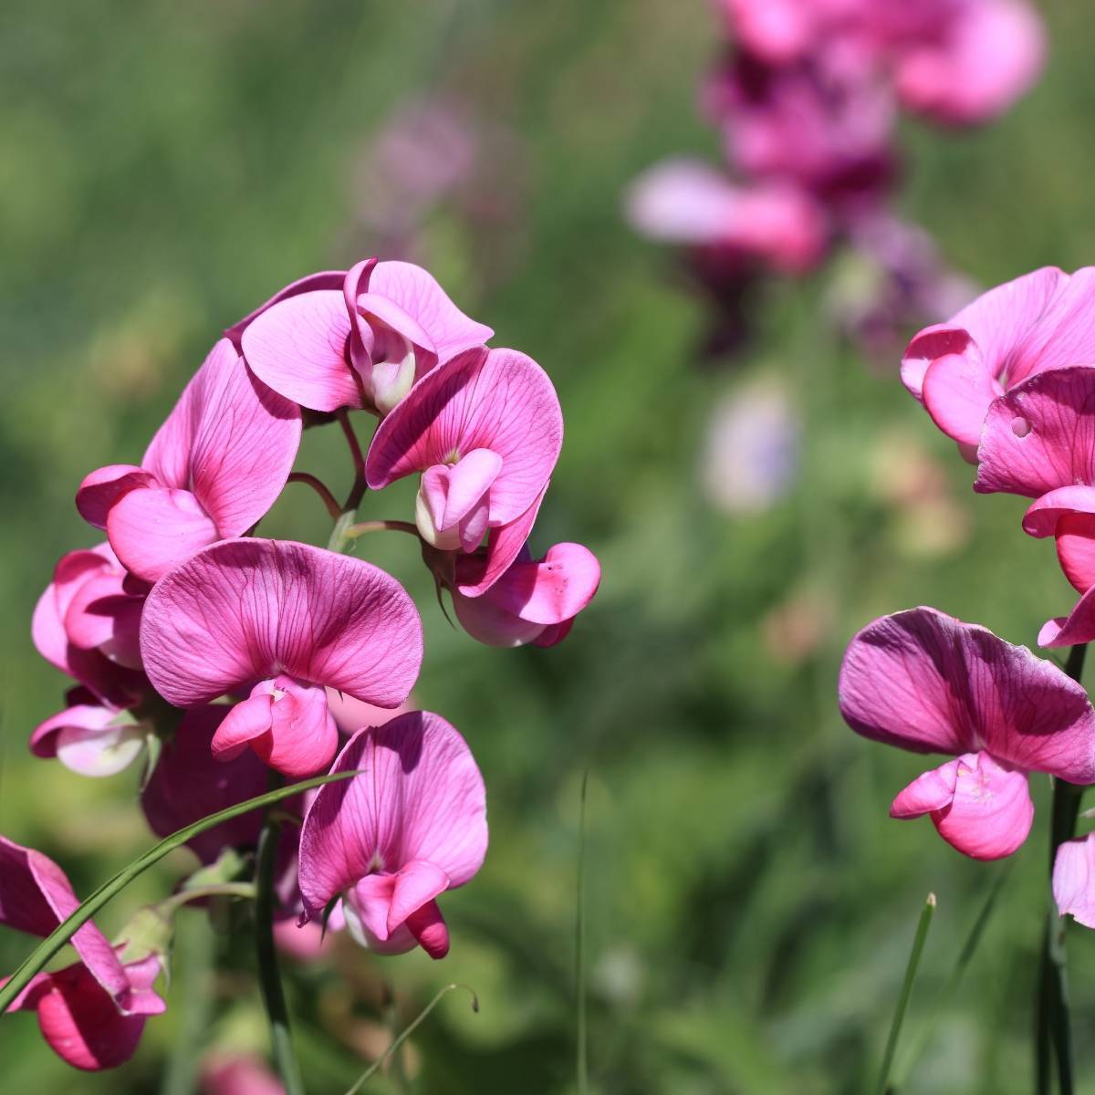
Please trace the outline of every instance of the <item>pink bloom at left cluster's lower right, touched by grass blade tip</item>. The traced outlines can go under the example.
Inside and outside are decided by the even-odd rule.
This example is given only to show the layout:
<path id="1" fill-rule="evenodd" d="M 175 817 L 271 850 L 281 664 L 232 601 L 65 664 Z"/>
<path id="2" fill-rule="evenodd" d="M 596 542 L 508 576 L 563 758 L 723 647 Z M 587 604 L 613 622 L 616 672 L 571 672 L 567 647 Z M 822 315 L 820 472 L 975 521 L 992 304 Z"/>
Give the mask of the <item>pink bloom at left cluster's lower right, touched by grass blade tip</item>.
<path id="1" fill-rule="evenodd" d="M 334 772 L 365 775 L 320 787 L 300 834 L 301 923 L 342 897 L 362 946 L 449 950 L 437 898 L 463 886 L 486 855 L 483 777 L 464 739 L 428 712 L 359 730 Z"/>

